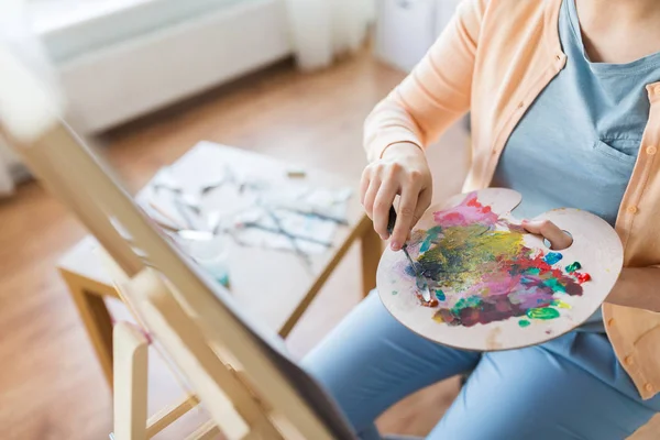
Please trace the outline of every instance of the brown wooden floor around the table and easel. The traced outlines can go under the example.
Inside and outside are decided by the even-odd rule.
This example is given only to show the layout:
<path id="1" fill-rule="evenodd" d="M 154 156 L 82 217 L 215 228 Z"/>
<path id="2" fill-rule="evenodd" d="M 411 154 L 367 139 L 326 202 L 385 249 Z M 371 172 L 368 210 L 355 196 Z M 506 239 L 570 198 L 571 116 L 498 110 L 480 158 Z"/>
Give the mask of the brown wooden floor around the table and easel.
<path id="1" fill-rule="evenodd" d="M 199 140 L 258 151 L 358 177 L 364 166 L 362 121 L 402 74 L 367 54 L 323 73 L 304 75 L 288 63 L 204 94 L 160 114 L 114 130 L 99 141 L 136 189 Z M 460 188 L 465 169 L 461 128 L 432 151 L 436 196 Z M 438 163 L 438 162 L 437 162 Z M 111 431 L 111 399 L 63 282 L 58 257 L 85 234 L 34 184 L 0 201 L 0 439 L 91 440 Z M 288 344 L 302 355 L 360 299 L 358 253 L 339 267 Z M 121 314 L 121 307 L 114 306 Z M 151 372 L 152 409 L 182 391 L 157 362 Z M 384 431 L 425 435 L 459 389 L 450 380 L 387 411 Z M 161 439 L 180 439 L 194 419 Z M 645 440 L 657 437 L 650 433 Z M 642 440 L 639 437 L 638 440 Z"/>

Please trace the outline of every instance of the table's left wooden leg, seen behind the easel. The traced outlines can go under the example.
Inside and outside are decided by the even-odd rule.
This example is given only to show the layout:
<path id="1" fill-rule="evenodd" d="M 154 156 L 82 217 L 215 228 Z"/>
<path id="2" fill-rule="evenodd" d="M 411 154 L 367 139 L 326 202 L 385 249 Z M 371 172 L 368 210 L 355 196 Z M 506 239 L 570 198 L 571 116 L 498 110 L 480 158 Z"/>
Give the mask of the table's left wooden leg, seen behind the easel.
<path id="1" fill-rule="evenodd" d="M 101 364 L 108 385 L 112 388 L 112 319 L 102 296 L 86 290 L 75 275 L 61 271 L 80 319 Z"/>

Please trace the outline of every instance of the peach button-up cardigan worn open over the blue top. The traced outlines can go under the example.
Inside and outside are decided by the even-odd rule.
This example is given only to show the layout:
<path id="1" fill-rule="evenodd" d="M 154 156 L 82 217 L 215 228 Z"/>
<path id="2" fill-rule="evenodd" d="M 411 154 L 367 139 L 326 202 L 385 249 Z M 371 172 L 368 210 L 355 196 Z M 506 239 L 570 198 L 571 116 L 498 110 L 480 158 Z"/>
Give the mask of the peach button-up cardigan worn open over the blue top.
<path id="1" fill-rule="evenodd" d="M 464 190 L 487 187 L 512 131 L 565 65 L 560 7 L 561 0 L 464 0 L 426 57 L 367 118 L 370 158 L 396 142 L 425 147 L 470 111 L 473 158 Z M 616 221 L 630 267 L 660 264 L 660 82 L 647 89 L 649 121 Z M 660 391 L 660 314 L 605 304 L 603 317 L 618 360 L 641 397 L 651 398 Z"/>

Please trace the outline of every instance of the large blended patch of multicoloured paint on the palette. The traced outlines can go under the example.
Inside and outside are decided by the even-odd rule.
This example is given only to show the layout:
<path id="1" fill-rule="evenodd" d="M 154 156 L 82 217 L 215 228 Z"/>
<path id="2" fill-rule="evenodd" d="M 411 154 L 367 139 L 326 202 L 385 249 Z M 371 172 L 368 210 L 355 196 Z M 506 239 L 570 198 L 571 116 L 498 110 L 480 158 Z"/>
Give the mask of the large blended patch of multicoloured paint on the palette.
<path id="1" fill-rule="evenodd" d="M 582 274 L 566 273 L 580 263 L 566 272 L 553 266 L 562 254 L 526 246 L 522 227 L 499 218 L 476 193 L 435 212 L 433 220 L 432 228 L 414 232 L 408 250 L 441 301 L 437 322 L 472 327 L 518 317 L 527 327 L 525 321 L 556 319 L 559 309 L 570 308 L 558 298 L 582 295 Z M 404 272 L 415 276 L 409 264 Z"/>

